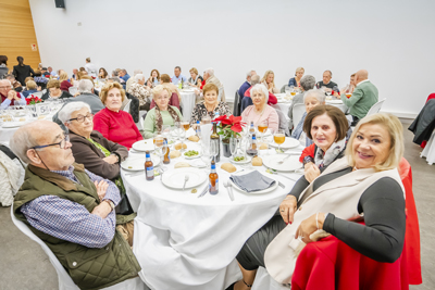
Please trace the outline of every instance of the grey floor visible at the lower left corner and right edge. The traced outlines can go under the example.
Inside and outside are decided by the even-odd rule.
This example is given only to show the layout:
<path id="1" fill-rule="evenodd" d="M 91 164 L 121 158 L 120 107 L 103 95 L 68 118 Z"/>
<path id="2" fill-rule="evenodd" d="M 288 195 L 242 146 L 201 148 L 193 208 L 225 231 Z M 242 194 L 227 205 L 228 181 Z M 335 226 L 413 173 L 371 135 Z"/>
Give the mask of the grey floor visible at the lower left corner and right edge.
<path id="1" fill-rule="evenodd" d="M 420 218 L 423 285 L 412 290 L 435 289 L 435 165 L 420 159 L 420 148 L 403 124 L 406 151 L 413 172 L 413 192 Z M 0 209 L 0 290 L 58 289 L 58 277 L 40 247 L 24 236 L 11 222 L 10 207 Z M 213 289 L 211 289 L 213 290 Z"/>

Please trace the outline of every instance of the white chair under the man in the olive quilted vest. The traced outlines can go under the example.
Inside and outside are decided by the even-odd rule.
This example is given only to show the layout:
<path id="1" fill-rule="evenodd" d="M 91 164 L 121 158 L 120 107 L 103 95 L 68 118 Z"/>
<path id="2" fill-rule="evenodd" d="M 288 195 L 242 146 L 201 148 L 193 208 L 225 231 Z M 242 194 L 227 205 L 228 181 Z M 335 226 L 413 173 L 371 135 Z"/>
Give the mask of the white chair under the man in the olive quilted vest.
<path id="1" fill-rule="evenodd" d="M 39 239 L 26 224 L 21 222 L 13 214 L 13 206 L 11 206 L 11 218 L 14 225 L 28 238 L 36 241 L 48 255 L 51 265 L 53 265 L 55 272 L 58 273 L 59 278 L 59 290 L 79 290 L 79 288 L 74 283 L 73 279 L 71 279 L 70 275 L 66 273 L 65 268 L 59 262 L 58 257 L 51 252 L 50 248 Z M 149 290 L 147 285 L 140 279 L 140 277 L 136 277 L 133 279 L 128 279 L 122 281 L 120 283 L 113 285 L 111 287 L 102 288 L 104 290 Z"/>

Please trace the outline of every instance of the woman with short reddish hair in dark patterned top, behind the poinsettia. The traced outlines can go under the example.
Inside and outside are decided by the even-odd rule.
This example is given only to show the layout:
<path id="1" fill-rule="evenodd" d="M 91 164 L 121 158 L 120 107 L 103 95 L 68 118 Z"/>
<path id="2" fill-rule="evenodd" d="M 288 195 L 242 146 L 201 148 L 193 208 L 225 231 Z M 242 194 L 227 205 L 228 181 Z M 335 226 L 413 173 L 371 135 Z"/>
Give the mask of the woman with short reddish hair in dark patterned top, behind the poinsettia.
<path id="1" fill-rule="evenodd" d="M 207 84 L 202 89 L 202 93 L 204 100 L 195 105 L 191 112 L 190 124 L 197 124 L 198 121 L 201 122 L 202 117 L 207 115 L 213 119 L 216 112 L 221 116 L 232 115 L 228 104 L 217 100 L 219 89 L 216 85 Z"/>

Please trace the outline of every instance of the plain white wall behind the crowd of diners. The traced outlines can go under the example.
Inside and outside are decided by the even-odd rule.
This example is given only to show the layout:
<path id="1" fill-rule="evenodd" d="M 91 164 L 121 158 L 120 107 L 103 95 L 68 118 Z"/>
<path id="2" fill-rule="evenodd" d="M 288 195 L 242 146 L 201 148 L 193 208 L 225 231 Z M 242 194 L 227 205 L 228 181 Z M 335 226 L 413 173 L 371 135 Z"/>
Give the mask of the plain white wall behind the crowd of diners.
<path id="1" fill-rule="evenodd" d="M 233 98 L 250 68 L 273 70 L 278 87 L 297 66 L 319 80 L 331 70 L 339 87 L 365 68 L 387 98 L 383 111 L 411 116 L 435 91 L 432 0 L 29 2 L 41 61 L 54 70 L 72 72 L 87 56 L 130 74 L 212 66 Z"/>

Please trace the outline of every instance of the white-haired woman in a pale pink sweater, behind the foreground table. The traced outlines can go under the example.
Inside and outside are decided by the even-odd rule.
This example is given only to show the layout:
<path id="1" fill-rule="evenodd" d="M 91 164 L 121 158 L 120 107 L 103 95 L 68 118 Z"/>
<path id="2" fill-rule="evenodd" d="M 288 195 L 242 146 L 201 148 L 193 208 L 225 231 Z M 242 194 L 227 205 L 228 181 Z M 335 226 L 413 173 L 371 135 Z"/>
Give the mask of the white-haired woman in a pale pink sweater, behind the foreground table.
<path id="1" fill-rule="evenodd" d="M 263 122 L 268 122 L 271 130 L 277 130 L 279 125 L 279 117 L 275 109 L 268 105 L 269 91 L 262 84 L 257 84 L 251 88 L 252 105 L 249 105 L 241 113 L 241 121 L 248 124 L 253 123 L 257 127 Z"/>

